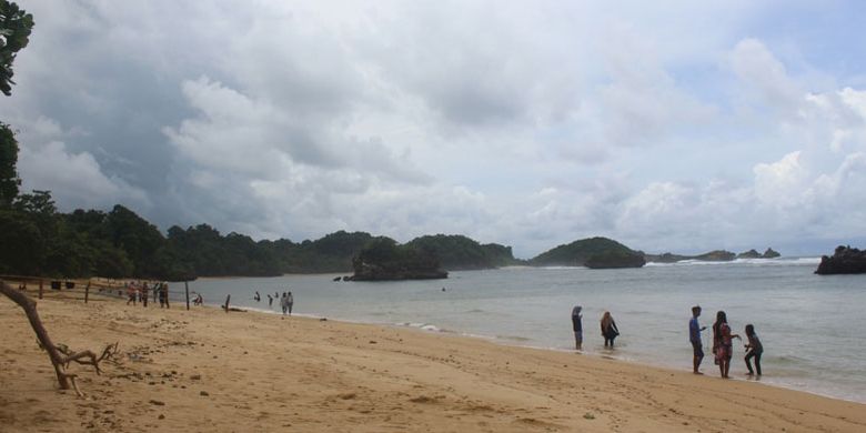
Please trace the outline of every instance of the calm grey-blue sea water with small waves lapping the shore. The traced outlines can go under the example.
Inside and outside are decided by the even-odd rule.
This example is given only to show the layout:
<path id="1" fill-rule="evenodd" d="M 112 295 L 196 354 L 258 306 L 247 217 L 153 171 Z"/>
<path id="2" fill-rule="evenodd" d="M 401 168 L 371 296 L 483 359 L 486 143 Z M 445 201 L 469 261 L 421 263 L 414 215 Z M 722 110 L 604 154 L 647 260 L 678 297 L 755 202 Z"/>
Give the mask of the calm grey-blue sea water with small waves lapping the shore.
<path id="1" fill-rule="evenodd" d="M 207 304 L 280 314 L 268 294 L 291 291 L 293 313 L 349 322 L 453 333 L 501 344 L 573 351 L 571 312 L 583 306 L 587 355 L 691 371 L 688 320 L 701 305 L 702 370 L 718 375 L 712 324 L 725 311 L 734 340 L 731 376 L 751 380 L 744 328 L 764 345 L 761 381 L 866 403 L 866 275 L 816 275 L 818 258 L 648 263 L 641 269 L 503 268 L 454 271 L 445 280 L 344 282 L 343 274 L 200 279 L 189 283 Z M 174 284 L 174 288 L 178 288 Z M 181 285 L 181 291 L 183 290 Z M 261 301 L 254 300 L 255 292 Z M 172 290 L 174 296 L 179 294 Z M 173 296 L 173 298 L 174 298 Z M 605 349 L 598 321 L 620 329 Z"/>

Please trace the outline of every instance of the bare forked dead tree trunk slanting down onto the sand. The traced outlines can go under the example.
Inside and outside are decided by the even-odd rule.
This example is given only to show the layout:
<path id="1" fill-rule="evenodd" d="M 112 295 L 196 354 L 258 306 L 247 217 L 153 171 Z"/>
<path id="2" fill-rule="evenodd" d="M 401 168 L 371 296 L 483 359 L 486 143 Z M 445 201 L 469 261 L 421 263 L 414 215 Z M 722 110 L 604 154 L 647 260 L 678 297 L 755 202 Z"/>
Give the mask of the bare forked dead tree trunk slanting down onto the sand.
<path id="1" fill-rule="evenodd" d="M 74 361 L 79 364 L 92 365 L 97 374 L 101 374 L 99 370 L 99 363 L 102 360 L 109 359 L 114 355 L 114 353 L 117 353 L 118 343 L 105 346 L 99 356 L 89 350 L 82 352 L 72 352 L 63 345 L 60 346 L 62 348 L 61 350 L 58 345 L 54 345 L 54 343 L 51 342 L 51 338 L 48 335 L 46 326 L 42 325 L 42 320 L 39 319 L 39 313 L 36 310 L 36 301 L 30 299 L 30 296 L 26 295 L 24 293 L 12 289 L 3 281 L 0 281 L 0 293 L 4 294 L 7 298 L 12 300 L 12 302 L 17 303 L 19 306 L 21 306 L 21 309 L 24 310 L 24 314 L 27 314 L 27 319 L 30 321 L 30 326 L 37 334 L 39 346 L 48 352 L 48 358 L 51 360 L 51 364 L 54 366 L 54 372 L 57 373 L 57 381 L 60 385 L 60 389 L 69 390 L 71 385 L 78 395 L 84 395 L 81 393 L 81 390 L 79 390 L 78 384 L 75 384 L 77 375 L 73 373 L 68 373 L 67 367 L 69 367 L 69 364 Z"/>

